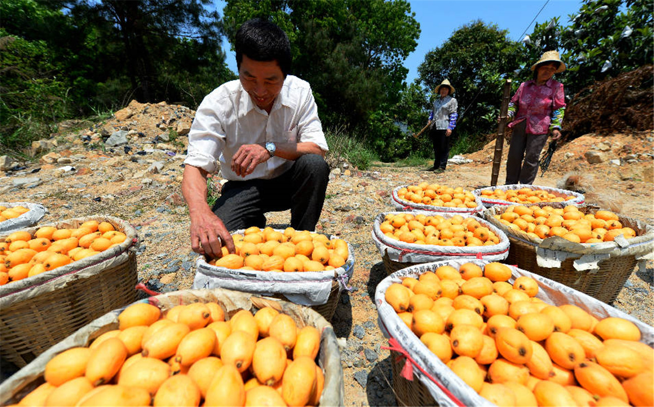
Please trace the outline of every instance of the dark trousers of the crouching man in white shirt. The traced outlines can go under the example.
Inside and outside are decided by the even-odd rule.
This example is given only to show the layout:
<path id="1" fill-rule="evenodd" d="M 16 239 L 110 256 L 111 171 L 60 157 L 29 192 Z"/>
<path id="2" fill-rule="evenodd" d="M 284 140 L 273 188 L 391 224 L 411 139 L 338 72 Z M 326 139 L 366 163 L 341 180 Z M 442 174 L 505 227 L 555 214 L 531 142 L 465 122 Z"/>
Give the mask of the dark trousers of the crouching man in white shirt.
<path id="1" fill-rule="evenodd" d="M 266 212 L 290 209 L 290 225 L 315 230 L 324 203 L 329 166 L 317 154 L 305 154 L 277 178 L 228 181 L 213 212 L 228 231 L 265 227 Z"/>

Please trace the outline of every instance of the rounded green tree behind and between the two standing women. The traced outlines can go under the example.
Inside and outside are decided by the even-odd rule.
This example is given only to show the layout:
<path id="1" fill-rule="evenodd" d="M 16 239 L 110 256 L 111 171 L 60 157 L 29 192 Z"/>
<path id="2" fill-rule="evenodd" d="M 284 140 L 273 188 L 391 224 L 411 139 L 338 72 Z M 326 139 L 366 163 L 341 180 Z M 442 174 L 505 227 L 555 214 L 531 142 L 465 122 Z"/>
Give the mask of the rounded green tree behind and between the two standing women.
<path id="1" fill-rule="evenodd" d="M 471 22 L 428 52 L 418 67 L 419 80 L 430 93 L 430 102 L 436 96 L 432 91 L 444 79 L 455 87 L 458 137 L 478 137 L 496 126 L 503 78 L 514 75 L 521 53 L 519 45 L 506 35 L 506 30 L 496 25 Z"/>

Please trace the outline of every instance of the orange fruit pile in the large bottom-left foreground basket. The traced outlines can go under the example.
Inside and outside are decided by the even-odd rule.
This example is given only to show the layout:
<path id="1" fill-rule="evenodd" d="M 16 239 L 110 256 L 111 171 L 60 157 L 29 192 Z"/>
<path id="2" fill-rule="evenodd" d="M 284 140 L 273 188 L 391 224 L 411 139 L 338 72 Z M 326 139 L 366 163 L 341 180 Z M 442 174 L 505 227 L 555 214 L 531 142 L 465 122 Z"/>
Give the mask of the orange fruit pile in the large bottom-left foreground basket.
<path id="1" fill-rule="evenodd" d="M 228 321 L 216 302 L 137 303 L 119 329 L 45 366 L 24 406 L 317 406 L 320 332 L 264 307 Z M 203 400 L 203 401 L 202 401 Z M 203 403 L 203 404 L 201 404 Z"/>

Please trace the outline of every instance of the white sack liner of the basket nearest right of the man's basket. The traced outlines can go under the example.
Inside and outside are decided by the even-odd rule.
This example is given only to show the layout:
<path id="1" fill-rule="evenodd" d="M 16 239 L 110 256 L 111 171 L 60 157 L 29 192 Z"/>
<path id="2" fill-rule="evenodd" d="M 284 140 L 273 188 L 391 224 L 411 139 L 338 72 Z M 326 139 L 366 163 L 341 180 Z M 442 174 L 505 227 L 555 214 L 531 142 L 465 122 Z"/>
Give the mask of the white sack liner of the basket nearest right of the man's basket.
<path id="1" fill-rule="evenodd" d="M 377 246 L 377 250 L 383 256 L 388 253 L 388 258 L 400 263 L 428 263 L 430 261 L 439 261 L 451 257 L 467 257 L 469 259 L 485 259 L 488 261 L 501 261 L 509 255 L 509 238 L 506 234 L 489 222 L 477 218 L 476 216 L 460 214 L 463 218 L 475 218 L 485 227 L 488 227 L 495 235 L 500 238 L 498 244 L 489 246 L 436 246 L 434 244 L 413 244 L 401 242 L 392 239 L 381 232 L 379 225 L 384 221 L 387 214 L 405 214 L 406 212 L 384 212 L 377 215 L 372 227 L 372 238 Z M 457 214 L 453 213 L 434 213 L 423 211 L 412 211 L 411 214 L 423 214 L 425 216 L 442 216 L 445 219 L 452 218 Z"/>

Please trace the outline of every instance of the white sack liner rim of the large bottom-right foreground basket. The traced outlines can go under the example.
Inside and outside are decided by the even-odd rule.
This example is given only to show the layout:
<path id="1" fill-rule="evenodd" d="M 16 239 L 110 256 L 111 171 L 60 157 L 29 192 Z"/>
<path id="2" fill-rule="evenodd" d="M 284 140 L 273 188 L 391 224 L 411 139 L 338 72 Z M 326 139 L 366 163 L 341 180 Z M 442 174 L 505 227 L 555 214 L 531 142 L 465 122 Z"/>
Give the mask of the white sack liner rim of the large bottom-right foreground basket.
<path id="1" fill-rule="evenodd" d="M 389 338 L 391 350 L 403 353 L 407 357 L 403 372 L 407 377 L 417 376 L 428 389 L 429 393 L 440 406 L 494 406 L 489 400 L 484 399 L 476 391 L 467 385 L 461 378 L 456 376 L 445 363 L 443 363 L 432 351 L 430 351 L 405 323 L 400 319 L 392 306 L 385 300 L 386 289 L 390 284 L 402 283 L 402 278 L 418 278 L 422 272 L 436 270 L 442 265 L 451 265 L 458 269 L 468 260 L 449 260 L 436 263 L 426 263 L 407 267 L 398 270 L 382 280 L 375 291 L 375 305 L 377 305 L 377 322 L 381 332 Z M 473 260 L 481 267 L 488 261 Z M 512 271 L 511 282 L 519 276 L 529 276 L 538 282 L 538 294 L 536 297 L 549 304 L 562 305 L 573 304 L 589 312 L 598 319 L 604 317 L 620 317 L 628 319 L 636 324 L 644 342 L 648 346 L 654 346 L 654 328 L 638 321 L 634 317 L 625 314 L 604 302 L 580 293 L 566 285 L 553 282 L 538 274 L 532 274 L 517 267 L 508 266 Z M 386 347 L 385 347 L 386 348 Z"/>

